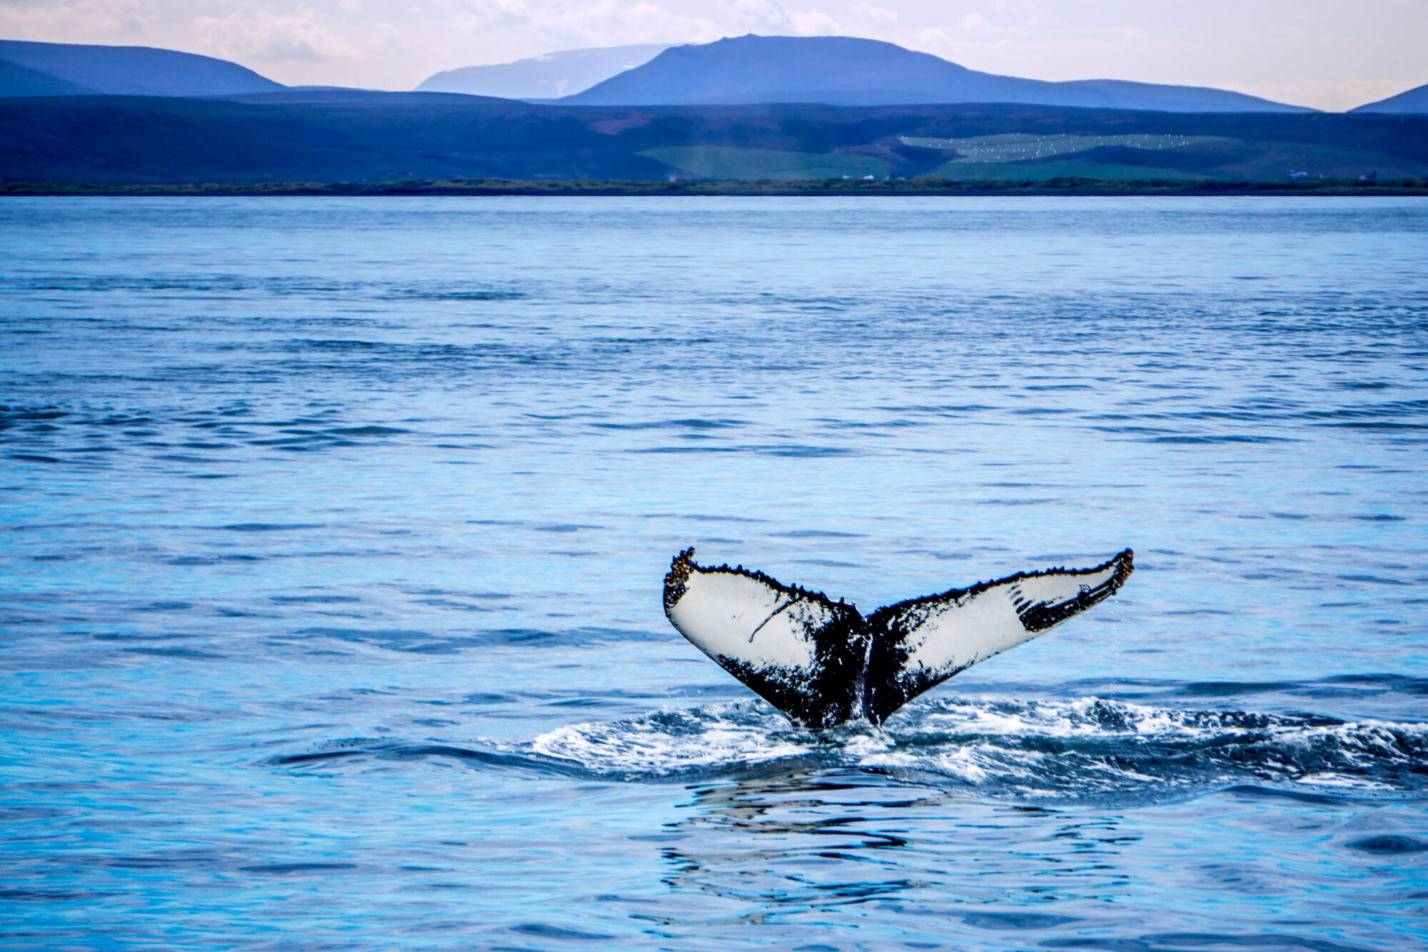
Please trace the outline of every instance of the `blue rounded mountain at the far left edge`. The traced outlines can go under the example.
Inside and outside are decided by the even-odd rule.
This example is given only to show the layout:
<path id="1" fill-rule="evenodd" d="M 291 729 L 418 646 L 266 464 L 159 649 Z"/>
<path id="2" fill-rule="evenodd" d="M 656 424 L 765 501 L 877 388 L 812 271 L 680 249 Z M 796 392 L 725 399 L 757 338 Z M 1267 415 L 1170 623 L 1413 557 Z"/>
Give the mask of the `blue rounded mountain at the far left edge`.
<path id="1" fill-rule="evenodd" d="M 6 96 L 233 96 L 286 89 L 250 69 L 211 56 L 147 46 L 81 46 L 0 40 L 0 60 L 49 77 L 50 91 Z M 9 80 L 4 76 L 4 80 Z M 30 83 L 39 81 L 36 77 Z M 69 86 L 81 89 L 69 89 Z M 20 89 L 4 86 L 0 89 Z"/>

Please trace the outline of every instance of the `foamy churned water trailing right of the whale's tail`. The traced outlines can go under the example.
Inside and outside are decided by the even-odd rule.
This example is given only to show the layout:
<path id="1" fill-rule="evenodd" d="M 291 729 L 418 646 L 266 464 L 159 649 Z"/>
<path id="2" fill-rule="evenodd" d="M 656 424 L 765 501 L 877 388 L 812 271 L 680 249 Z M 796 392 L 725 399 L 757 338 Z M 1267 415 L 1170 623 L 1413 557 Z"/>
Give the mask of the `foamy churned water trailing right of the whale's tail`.
<path id="1" fill-rule="evenodd" d="M 1081 698 L 942 700 L 864 768 L 935 773 L 1020 796 L 1167 793 L 1245 782 L 1428 789 L 1428 725 L 1194 710 Z"/>

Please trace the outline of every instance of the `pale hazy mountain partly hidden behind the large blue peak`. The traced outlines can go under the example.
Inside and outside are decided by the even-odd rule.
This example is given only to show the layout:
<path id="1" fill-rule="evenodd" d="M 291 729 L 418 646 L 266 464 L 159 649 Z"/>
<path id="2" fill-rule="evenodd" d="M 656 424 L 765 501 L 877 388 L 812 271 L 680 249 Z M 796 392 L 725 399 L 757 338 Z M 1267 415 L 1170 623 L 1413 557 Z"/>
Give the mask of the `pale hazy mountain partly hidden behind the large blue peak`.
<path id="1" fill-rule="evenodd" d="M 467 66 L 437 73 L 417 86 L 417 90 L 503 99 L 558 99 L 643 66 L 667 47 L 668 43 L 605 46 L 547 53 L 498 66 Z"/>

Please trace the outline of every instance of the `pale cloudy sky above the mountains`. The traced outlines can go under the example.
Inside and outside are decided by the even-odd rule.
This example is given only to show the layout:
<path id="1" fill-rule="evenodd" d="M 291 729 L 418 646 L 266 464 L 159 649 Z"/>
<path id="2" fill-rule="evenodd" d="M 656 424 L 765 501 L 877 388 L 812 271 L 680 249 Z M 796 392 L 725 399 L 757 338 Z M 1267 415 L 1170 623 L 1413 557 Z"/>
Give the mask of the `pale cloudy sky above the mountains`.
<path id="1" fill-rule="evenodd" d="M 3 39 L 161 46 L 281 83 L 368 89 L 743 33 L 864 36 L 991 73 L 1218 86 L 1319 109 L 1428 83 L 1428 0 L 0 0 Z"/>

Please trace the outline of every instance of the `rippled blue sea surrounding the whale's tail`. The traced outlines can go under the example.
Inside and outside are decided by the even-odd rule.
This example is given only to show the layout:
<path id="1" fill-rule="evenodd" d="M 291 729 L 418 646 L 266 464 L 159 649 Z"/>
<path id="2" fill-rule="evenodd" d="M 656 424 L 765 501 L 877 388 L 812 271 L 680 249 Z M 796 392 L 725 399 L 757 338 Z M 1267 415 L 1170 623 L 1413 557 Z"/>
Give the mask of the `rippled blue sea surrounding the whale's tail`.
<path id="1" fill-rule="evenodd" d="M 1428 203 L 6 199 L 16 948 L 1428 942 Z M 1122 593 L 794 729 L 670 557 Z"/>

